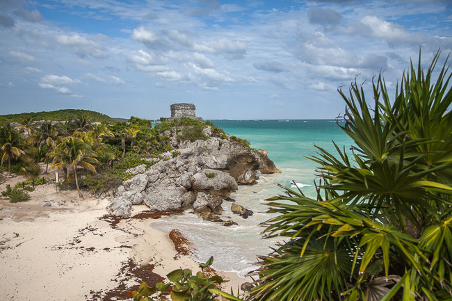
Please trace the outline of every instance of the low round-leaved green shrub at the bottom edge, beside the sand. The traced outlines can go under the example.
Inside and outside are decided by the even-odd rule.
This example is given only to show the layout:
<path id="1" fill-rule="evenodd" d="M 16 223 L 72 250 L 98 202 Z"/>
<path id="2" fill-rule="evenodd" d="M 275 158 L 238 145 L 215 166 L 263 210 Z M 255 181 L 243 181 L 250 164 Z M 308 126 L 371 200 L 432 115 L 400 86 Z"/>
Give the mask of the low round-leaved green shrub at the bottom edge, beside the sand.
<path id="1" fill-rule="evenodd" d="M 216 300 L 216 296 L 223 296 L 229 300 L 242 301 L 234 295 L 229 295 L 218 289 L 218 284 L 223 283 L 223 278 L 220 276 L 207 277 L 204 275 L 204 268 L 211 266 L 213 257 L 207 263 L 200 264 L 202 272 L 197 272 L 195 275 L 190 269 L 173 270 L 166 277 L 170 283 L 158 283 L 154 287 L 147 286 L 143 282 L 138 291 L 128 291 L 129 297 L 134 301 L 151 301 L 151 300 L 166 300 L 165 294 L 168 288 L 171 288 L 170 296 L 172 301 L 208 301 Z M 157 293 L 157 295 L 156 295 Z"/>

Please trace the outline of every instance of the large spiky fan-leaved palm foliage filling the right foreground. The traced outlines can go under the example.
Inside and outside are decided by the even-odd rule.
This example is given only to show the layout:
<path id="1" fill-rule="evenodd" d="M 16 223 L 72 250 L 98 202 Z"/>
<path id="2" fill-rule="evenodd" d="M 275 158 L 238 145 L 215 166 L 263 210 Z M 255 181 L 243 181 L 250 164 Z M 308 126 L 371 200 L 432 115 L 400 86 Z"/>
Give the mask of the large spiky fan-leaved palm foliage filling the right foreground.
<path id="1" fill-rule="evenodd" d="M 317 197 L 284 188 L 269 199 L 268 237 L 253 300 L 452 300 L 452 91 L 447 63 L 411 64 L 389 98 L 381 74 L 373 106 L 352 83 L 344 132 L 351 154 L 317 147 Z M 447 62 L 447 60 L 446 60 Z"/>

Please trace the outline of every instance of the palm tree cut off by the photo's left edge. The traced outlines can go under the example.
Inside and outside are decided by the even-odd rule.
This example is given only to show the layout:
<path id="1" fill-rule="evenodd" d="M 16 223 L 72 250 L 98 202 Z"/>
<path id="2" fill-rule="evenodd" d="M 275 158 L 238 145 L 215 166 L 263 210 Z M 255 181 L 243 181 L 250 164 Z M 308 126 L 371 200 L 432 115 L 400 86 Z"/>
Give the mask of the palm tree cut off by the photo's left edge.
<path id="1" fill-rule="evenodd" d="M 0 145 L 0 163 L 1 165 L 5 162 L 8 164 L 8 176 L 11 176 L 11 159 L 22 158 L 23 161 L 31 161 L 26 152 L 29 150 L 29 146 L 25 144 L 24 136 L 9 122 L 4 122 L 0 127 Z"/>

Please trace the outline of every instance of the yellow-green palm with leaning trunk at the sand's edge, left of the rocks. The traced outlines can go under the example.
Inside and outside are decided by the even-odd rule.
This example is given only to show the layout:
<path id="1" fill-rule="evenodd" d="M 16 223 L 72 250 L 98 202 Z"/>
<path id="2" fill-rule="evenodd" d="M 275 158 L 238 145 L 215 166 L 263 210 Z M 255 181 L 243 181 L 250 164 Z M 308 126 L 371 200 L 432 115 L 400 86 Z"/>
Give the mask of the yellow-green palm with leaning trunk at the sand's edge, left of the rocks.
<path id="1" fill-rule="evenodd" d="M 85 143 L 77 137 L 66 137 L 50 154 L 50 157 L 53 158 L 51 168 L 72 168 L 79 197 L 83 199 L 79 188 L 77 168 L 80 165 L 82 168 L 96 173 L 95 166 L 92 164 L 97 164 L 99 161 L 94 156 L 89 143 Z M 66 181 L 69 179 L 68 177 Z"/>

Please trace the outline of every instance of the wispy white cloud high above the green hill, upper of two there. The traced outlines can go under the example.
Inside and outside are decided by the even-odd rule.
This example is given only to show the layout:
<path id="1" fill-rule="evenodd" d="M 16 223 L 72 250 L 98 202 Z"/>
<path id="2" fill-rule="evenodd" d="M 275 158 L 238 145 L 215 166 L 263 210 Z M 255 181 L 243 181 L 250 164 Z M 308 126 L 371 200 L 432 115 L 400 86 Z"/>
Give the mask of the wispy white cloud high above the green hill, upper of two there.
<path id="1" fill-rule="evenodd" d="M 55 37 L 58 44 L 68 47 L 80 58 L 92 56 L 93 58 L 108 58 L 101 44 L 81 37 L 80 35 L 58 35 Z"/>

